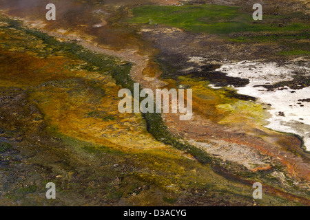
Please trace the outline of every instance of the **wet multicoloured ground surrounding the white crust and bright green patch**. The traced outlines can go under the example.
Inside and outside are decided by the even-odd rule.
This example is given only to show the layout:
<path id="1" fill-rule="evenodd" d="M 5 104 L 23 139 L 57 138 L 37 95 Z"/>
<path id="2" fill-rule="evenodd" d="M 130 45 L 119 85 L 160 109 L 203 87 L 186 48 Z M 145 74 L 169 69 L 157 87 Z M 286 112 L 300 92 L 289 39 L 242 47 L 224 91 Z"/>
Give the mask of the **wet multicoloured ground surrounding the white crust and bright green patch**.
<path id="1" fill-rule="evenodd" d="M 223 36 L 128 22 L 136 16 L 132 8 L 161 1 L 57 3 L 51 22 L 44 20 L 45 1 L 0 4 L 9 15 L 0 23 L 1 204 L 309 205 L 302 139 L 267 129 L 269 103 L 237 92 L 251 78 L 219 69 L 228 62 L 281 64 L 300 57 L 305 65 L 304 30 L 265 41 L 275 33 Z M 270 4 L 267 14 L 285 13 L 280 6 L 290 4 L 304 12 L 299 1 Z M 251 11 L 243 7 L 241 13 Z M 295 46 L 285 46 L 292 41 L 287 32 L 298 36 Z M 249 41 L 255 41 L 251 47 Z M 193 120 L 118 113 L 118 90 L 133 82 L 192 88 Z M 55 201 L 45 199 L 48 181 L 56 183 Z M 254 181 L 264 185 L 260 201 L 251 197 Z"/>

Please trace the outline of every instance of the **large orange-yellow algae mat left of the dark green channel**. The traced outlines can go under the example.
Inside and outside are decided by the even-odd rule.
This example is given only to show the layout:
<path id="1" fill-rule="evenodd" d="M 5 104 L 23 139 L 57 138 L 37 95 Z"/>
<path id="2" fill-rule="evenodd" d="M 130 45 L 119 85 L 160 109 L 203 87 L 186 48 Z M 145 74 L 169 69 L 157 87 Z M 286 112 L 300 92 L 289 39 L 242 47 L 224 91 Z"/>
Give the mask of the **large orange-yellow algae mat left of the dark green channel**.
<path id="1" fill-rule="evenodd" d="M 10 37 L 6 32 L 15 34 Z M 52 52 L 52 47 L 21 31 L 6 32 L 0 32 L 0 45 L 7 45 L 10 38 L 7 50 L 0 50 L 0 86 L 32 87 L 32 102 L 61 133 L 121 150 L 162 148 L 178 152 L 157 142 L 140 114 L 118 112 L 121 87 L 111 76 L 96 72 L 94 66 L 89 67 L 94 71 L 86 71 L 83 61 L 50 54 L 47 51 Z"/>

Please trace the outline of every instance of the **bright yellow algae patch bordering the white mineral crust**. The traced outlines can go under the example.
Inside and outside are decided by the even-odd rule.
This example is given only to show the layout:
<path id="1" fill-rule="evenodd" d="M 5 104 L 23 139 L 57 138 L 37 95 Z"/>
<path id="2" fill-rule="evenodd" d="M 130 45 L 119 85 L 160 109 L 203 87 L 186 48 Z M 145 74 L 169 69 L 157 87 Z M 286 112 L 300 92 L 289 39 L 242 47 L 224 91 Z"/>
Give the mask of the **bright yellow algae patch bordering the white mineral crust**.
<path id="1" fill-rule="evenodd" d="M 179 76 L 178 80 L 193 90 L 193 109 L 205 118 L 229 126 L 267 124 L 268 114 L 261 104 L 227 96 L 235 91 L 234 88 L 212 89 L 209 82 L 186 76 Z"/>

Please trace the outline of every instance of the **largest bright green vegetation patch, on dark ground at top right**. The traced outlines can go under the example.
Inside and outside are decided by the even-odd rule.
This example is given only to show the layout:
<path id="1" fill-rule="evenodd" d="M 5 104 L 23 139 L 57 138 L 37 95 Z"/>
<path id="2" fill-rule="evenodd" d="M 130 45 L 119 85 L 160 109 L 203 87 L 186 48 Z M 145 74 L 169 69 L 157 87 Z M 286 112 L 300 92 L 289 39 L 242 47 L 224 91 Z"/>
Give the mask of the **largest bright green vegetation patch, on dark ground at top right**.
<path id="1" fill-rule="evenodd" d="M 134 8 L 132 23 L 164 24 L 192 32 L 229 34 L 232 32 L 280 32 L 309 29 L 310 25 L 292 21 L 279 25 L 282 19 L 293 15 L 264 16 L 254 21 L 251 13 L 241 12 L 238 7 L 223 5 L 146 5 Z"/>

